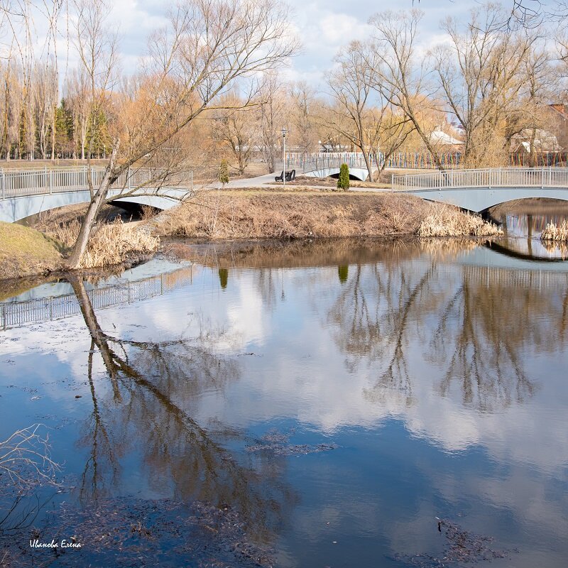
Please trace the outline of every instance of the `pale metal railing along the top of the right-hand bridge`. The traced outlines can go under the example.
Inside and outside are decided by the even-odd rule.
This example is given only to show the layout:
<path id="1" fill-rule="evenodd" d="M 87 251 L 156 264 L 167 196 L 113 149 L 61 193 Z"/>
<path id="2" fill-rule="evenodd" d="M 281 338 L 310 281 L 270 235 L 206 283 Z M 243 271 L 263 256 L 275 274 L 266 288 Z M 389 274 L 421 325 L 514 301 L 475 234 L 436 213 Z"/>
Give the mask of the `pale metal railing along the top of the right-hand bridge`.
<path id="1" fill-rule="evenodd" d="M 393 175 L 393 190 L 418 191 L 468 187 L 567 187 L 568 168 L 490 168 Z"/>

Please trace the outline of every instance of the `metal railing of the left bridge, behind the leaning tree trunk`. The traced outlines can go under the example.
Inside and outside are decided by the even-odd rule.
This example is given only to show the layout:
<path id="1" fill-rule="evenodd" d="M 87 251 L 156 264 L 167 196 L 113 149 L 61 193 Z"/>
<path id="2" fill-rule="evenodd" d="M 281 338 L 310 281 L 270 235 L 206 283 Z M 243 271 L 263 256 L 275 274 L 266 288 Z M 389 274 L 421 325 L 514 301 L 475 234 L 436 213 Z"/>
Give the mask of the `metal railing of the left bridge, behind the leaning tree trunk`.
<path id="1" fill-rule="evenodd" d="M 99 187 L 104 178 L 104 168 L 43 168 L 35 170 L 1 170 L 0 200 L 9 197 L 26 197 L 70 191 L 84 191 Z M 136 187 L 182 187 L 193 190 L 193 172 L 164 173 L 163 170 L 141 168 L 127 170 L 111 186 L 129 190 Z"/>

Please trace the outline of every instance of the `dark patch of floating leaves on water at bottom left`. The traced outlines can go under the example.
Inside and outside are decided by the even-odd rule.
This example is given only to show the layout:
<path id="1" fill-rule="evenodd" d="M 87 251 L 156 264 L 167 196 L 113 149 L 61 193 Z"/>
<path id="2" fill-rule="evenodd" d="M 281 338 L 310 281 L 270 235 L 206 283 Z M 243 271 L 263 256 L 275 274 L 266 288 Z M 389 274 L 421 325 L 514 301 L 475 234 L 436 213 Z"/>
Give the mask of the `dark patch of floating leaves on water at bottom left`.
<path id="1" fill-rule="evenodd" d="M 82 510 L 62 503 L 53 513 L 49 529 L 33 537 L 48 542 L 75 539 L 81 548 L 35 551 L 18 550 L 14 545 L 13 550 L 4 548 L 8 565 L 51 564 L 55 557 L 60 568 L 268 568 L 274 564 L 273 552 L 251 542 L 244 518 L 229 505 L 119 498 L 99 501 Z"/>

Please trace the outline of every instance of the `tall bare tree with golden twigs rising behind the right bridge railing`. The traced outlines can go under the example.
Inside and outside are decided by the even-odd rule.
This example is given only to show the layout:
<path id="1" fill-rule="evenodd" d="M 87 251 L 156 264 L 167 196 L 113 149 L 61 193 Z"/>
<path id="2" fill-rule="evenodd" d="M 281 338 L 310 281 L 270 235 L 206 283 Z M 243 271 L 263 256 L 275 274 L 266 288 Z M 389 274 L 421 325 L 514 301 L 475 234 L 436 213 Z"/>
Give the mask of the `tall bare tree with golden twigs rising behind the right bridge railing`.
<path id="1" fill-rule="evenodd" d="M 473 168 L 507 159 L 503 125 L 518 117 L 523 71 L 538 37 L 503 29 L 503 17 L 501 6 L 487 4 L 471 12 L 463 32 L 447 19 L 442 29 L 452 43 L 434 53 L 439 86 L 464 130 L 464 163 Z"/>

